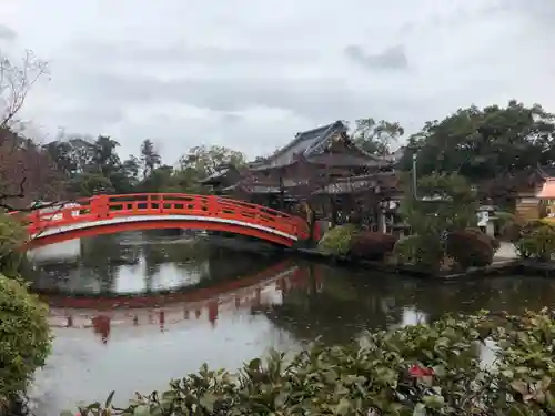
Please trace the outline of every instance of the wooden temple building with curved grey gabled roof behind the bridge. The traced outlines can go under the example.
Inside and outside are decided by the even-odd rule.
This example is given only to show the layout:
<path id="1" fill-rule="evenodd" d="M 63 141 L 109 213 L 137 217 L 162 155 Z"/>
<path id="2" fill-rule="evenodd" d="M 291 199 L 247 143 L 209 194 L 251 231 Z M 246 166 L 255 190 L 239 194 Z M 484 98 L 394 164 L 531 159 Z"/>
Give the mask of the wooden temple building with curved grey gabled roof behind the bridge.
<path id="1" fill-rule="evenodd" d="M 230 182 L 226 173 L 212 175 L 203 183 L 229 196 L 282 211 L 309 203 L 319 219 L 332 222 L 356 211 L 364 211 L 369 217 L 369 211 L 373 211 L 371 221 L 381 224 L 381 212 L 391 205 L 387 200 L 398 193 L 396 158 L 363 151 L 347 130 L 336 121 L 297 133 L 271 156 L 242 169 L 232 185 L 223 186 Z"/>

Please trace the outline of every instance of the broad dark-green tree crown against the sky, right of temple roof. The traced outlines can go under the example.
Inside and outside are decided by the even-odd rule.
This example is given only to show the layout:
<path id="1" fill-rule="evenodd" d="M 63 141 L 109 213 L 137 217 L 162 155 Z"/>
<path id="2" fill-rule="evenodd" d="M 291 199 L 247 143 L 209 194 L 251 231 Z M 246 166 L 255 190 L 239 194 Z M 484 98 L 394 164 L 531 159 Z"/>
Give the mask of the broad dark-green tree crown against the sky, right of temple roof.
<path id="1" fill-rule="evenodd" d="M 555 115 L 541 105 L 513 100 L 507 106 L 460 109 L 442 121 L 427 122 L 410 138 L 401 160 L 417 173 L 458 173 L 471 183 L 555 162 Z"/>

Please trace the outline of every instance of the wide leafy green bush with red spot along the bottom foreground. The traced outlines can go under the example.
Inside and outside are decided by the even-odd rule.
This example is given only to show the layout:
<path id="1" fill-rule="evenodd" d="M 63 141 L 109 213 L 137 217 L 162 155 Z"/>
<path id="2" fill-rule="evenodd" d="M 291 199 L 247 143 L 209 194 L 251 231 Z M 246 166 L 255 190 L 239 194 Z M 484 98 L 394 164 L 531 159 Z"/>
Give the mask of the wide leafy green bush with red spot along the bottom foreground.
<path id="1" fill-rule="evenodd" d="M 495 366 L 480 346 L 495 341 Z M 255 358 L 236 375 L 212 372 L 173 381 L 114 410 L 93 404 L 82 415 L 553 415 L 555 322 L 481 313 L 430 326 L 366 334 L 360 344 L 313 345 L 293 357 Z M 63 415 L 72 415 L 65 413 Z"/>

